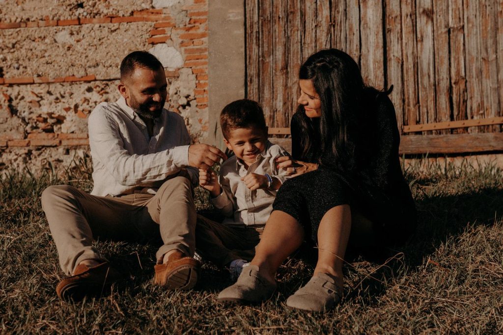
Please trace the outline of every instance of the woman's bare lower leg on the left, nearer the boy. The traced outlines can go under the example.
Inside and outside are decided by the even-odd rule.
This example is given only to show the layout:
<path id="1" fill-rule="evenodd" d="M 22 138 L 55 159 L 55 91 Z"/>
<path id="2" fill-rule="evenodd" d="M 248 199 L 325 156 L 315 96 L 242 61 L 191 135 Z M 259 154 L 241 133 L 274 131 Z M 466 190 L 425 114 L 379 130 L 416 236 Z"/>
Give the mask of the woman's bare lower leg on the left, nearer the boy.
<path id="1" fill-rule="evenodd" d="M 261 275 L 274 281 L 281 263 L 300 247 L 303 239 L 304 229 L 299 222 L 290 214 L 274 210 L 250 264 L 257 265 Z"/>

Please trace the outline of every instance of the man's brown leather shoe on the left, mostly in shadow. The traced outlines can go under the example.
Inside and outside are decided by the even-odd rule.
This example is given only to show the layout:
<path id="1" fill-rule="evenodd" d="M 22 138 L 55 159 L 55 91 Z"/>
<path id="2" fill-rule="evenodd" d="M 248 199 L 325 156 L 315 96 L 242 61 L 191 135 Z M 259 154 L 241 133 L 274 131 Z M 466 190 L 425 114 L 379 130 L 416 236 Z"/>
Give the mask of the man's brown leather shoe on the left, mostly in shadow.
<path id="1" fill-rule="evenodd" d="M 121 274 L 108 262 L 93 267 L 79 264 L 73 276 L 59 282 L 56 293 L 63 300 L 73 301 L 82 300 L 85 296 L 100 296 L 121 278 Z"/>

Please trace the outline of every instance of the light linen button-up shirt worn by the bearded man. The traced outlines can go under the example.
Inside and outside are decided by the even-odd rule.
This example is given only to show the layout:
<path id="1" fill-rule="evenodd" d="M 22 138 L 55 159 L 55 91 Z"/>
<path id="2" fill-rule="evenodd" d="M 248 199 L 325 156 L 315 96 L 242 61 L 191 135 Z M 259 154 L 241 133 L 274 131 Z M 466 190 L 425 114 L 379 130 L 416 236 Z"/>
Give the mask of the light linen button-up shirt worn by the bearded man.
<path id="1" fill-rule="evenodd" d="M 180 115 L 163 109 L 150 138 L 143 120 L 121 97 L 100 103 L 88 125 L 94 169 L 91 194 L 155 194 L 167 177 L 182 168 L 197 185 L 197 169 L 187 167 L 190 136 Z"/>

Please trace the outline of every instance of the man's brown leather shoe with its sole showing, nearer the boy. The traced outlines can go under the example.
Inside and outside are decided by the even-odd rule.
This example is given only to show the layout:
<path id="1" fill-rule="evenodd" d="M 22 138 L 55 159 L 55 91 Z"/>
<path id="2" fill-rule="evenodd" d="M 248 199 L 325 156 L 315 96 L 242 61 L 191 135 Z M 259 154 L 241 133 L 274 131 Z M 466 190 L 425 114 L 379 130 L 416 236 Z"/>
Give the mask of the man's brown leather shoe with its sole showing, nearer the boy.
<path id="1" fill-rule="evenodd" d="M 189 290 L 196 285 L 200 267 L 194 258 L 176 251 L 167 258 L 167 263 L 154 266 L 154 281 L 169 289 Z"/>

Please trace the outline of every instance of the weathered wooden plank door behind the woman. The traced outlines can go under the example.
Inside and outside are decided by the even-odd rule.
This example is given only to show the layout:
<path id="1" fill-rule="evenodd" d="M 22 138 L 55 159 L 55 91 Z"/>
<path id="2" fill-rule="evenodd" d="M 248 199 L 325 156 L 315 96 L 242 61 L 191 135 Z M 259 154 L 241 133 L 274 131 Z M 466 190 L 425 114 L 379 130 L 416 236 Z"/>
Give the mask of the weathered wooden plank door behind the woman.
<path id="1" fill-rule="evenodd" d="M 300 64 L 323 48 L 350 54 L 368 84 L 394 85 L 401 130 L 503 115 L 503 0 L 245 0 L 245 12 L 246 93 L 264 106 L 269 127 L 289 127 Z M 460 133 L 500 129 L 402 136 L 415 136 L 404 143 L 426 152 L 431 136 L 449 135 L 456 144 Z M 450 152 L 470 151 L 465 142 Z"/>

